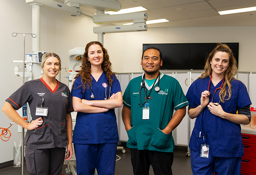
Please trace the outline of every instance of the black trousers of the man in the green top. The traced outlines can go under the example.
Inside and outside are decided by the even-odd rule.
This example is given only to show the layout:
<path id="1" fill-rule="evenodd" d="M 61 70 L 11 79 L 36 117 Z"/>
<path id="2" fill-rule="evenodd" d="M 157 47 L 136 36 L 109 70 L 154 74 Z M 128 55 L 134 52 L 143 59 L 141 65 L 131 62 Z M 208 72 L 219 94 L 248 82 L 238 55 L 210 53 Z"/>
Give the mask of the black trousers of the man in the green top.
<path id="1" fill-rule="evenodd" d="M 135 175 L 149 174 L 150 165 L 155 175 L 172 175 L 173 152 L 131 150 L 131 164 Z"/>

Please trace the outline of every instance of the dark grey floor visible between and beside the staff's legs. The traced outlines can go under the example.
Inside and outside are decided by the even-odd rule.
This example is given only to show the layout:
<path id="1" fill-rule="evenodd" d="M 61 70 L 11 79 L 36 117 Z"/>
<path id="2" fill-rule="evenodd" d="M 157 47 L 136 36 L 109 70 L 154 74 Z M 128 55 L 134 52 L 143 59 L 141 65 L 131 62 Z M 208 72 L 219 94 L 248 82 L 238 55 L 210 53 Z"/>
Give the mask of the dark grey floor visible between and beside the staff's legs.
<path id="1" fill-rule="evenodd" d="M 127 148 L 126 143 L 123 142 L 120 146 L 124 146 L 126 153 L 122 153 L 121 150 L 117 150 L 117 155 L 121 157 L 119 161 L 116 161 L 116 175 L 132 175 L 132 166 L 131 166 L 131 155 L 130 149 Z M 187 147 L 185 146 L 176 146 L 174 150 L 174 162 L 172 165 L 172 170 L 174 175 L 192 175 L 191 165 L 190 165 L 190 157 L 186 156 Z M 118 157 L 117 157 L 118 158 Z M 63 165 L 62 174 L 66 174 L 66 165 Z M 0 169 L 0 175 L 20 175 L 21 167 L 6 167 L 4 169 Z M 26 166 L 24 166 L 24 175 L 27 175 Z M 153 169 L 150 167 L 149 171 L 150 175 L 153 175 Z M 72 175 L 72 173 L 70 174 Z"/>

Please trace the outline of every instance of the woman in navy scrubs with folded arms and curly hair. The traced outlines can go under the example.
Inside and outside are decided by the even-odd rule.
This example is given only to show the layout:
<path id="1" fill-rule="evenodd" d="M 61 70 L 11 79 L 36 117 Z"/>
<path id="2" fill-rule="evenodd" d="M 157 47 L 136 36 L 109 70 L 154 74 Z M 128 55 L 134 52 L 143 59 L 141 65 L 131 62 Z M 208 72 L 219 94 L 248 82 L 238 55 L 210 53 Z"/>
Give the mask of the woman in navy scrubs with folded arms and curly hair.
<path id="1" fill-rule="evenodd" d="M 71 94 L 77 112 L 73 133 L 77 174 L 114 174 L 119 141 L 115 109 L 122 106 L 119 81 L 102 44 L 86 45 Z"/>

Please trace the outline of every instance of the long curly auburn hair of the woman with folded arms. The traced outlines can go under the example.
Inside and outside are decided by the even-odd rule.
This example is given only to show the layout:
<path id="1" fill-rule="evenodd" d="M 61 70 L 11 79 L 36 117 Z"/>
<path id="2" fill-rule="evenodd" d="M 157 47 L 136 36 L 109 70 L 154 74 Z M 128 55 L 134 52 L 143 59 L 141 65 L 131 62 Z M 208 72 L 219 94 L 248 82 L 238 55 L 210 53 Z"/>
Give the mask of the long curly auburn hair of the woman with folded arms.
<path id="1" fill-rule="evenodd" d="M 97 44 L 97 45 L 101 46 L 101 49 L 103 51 L 103 62 L 101 64 L 101 68 L 105 72 L 105 74 L 107 76 L 107 81 L 108 81 L 108 83 L 111 86 L 112 86 L 112 83 L 113 83 L 113 80 L 111 79 L 111 76 L 112 75 L 115 76 L 115 73 L 112 72 L 112 66 L 111 66 L 112 64 L 111 64 L 111 62 L 109 60 L 109 55 L 108 55 L 107 49 L 105 49 L 100 42 L 98 42 L 98 41 L 91 41 L 85 47 L 85 51 L 84 51 L 84 54 L 83 54 L 83 57 L 82 57 L 82 67 L 81 67 L 81 70 L 74 77 L 74 79 L 76 79 L 79 75 L 81 75 L 81 78 L 82 78 L 81 85 L 83 85 L 83 91 L 85 89 L 88 89 L 92 85 L 92 77 L 90 76 L 90 73 L 91 73 L 91 63 L 90 63 L 90 61 L 88 61 L 88 49 L 93 44 Z M 74 86 L 74 83 L 72 85 L 72 89 L 73 89 L 73 86 Z"/>

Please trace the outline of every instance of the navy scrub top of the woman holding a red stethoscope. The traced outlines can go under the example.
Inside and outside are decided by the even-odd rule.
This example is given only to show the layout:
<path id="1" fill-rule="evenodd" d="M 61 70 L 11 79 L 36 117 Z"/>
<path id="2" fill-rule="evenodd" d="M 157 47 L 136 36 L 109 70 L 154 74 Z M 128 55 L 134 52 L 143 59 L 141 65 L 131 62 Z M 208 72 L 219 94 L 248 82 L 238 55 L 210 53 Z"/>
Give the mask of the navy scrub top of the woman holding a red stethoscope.
<path id="1" fill-rule="evenodd" d="M 210 77 L 197 79 L 189 87 L 187 99 L 189 106 L 195 108 L 200 105 L 201 93 L 208 89 Z M 214 87 L 210 84 L 209 102 L 212 102 L 212 96 L 216 88 L 220 87 L 222 80 Z M 236 114 L 238 109 L 251 105 L 246 86 L 240 81 L 231 80 L 231 99 L 220 102 L 222 109 L 230 114 Z M 228 90 L 228 86 L 226 87 Z M 214 95 L 213 102 L 219 102 L 219 91 Z M 227 97 L 226 97 L 227 98 Z M 201 135 L 200 135 L 201 131 Z M 200 152 L 203 136 L 207 137 L 206 144 L 209 145 L 209 154 L 216 157 L 242 157 L 243 143 L 241 136 L 241 126 L 231 121 L 213 115 L 208 107 L 204 107 L 201 114 L 195 120 L 195 126 L 192 131 L 189 147 L 193 151 Z"/>

